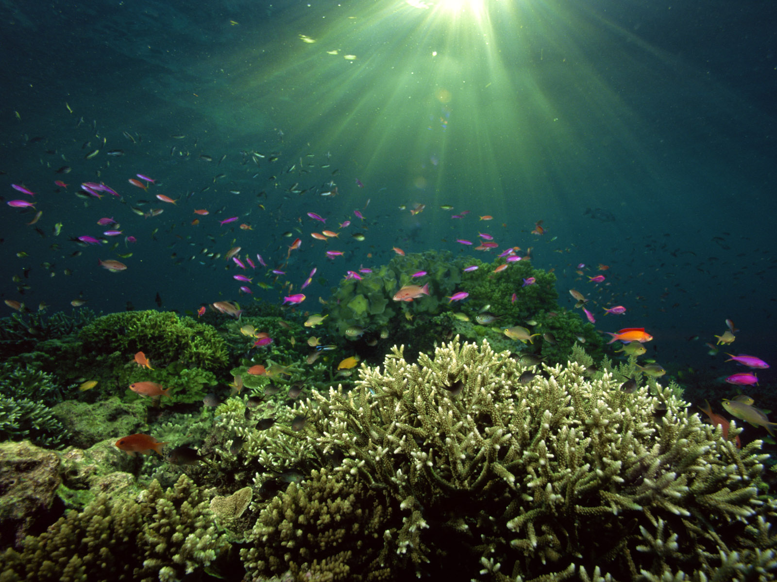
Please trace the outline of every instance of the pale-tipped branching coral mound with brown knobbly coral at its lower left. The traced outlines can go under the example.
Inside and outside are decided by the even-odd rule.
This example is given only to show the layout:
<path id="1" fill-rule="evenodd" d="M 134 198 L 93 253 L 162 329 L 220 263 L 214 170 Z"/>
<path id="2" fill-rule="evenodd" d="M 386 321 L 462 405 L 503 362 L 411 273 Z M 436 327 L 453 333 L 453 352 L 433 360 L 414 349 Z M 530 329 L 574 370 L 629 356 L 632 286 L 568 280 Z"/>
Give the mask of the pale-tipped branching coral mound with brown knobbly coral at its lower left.
<path id="1" fill-rule="evenodd" d="M 352 580 L 368 579 L 365 563 L 395 578 L 774 579 L 760 442 L 737 450 L 735 424 L 723 439 L 657 384 L 625 393 L 575 362 L 523 371 L 456 338 L 412 365 L 394 348 L 354 390 L 314 393 L 302 431 L 273 431 L 298 458 L 344 459 L 257 507 L 249 576 L 302 580 L 334 561 L 326 571 Z M 354 519 L 359 546 L 341 531 Z"/>

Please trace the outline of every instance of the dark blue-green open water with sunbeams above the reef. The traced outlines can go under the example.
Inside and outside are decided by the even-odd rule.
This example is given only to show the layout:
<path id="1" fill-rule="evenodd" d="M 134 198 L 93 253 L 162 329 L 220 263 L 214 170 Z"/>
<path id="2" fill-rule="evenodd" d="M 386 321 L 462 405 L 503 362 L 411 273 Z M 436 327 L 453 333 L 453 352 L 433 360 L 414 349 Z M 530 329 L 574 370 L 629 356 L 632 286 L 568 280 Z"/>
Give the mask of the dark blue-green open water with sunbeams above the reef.
<path id="1" fill-rule="evenodd" d="M 94 310 L 151 308 L 157 293 L 181 311 L 244 303 L 225 252 L 241 246 L 274 268 L 301 237 L 286 277 L 254 296 L 280 303 L 280 283 L 297 291 L 315 266 L 313 305 L 394 246 L 493 257 L 455 242 L 484 232 L 500 248 L 533 247 L 563 304 L 575 287 L 628 307 L 598 328 L 646 327 L 671 372 L 733 372 L 704 345 L 726 318 L 741 330 L 734 352 L 775 362 L 774 2 L 501 3 L 490 22 L 458 27 L 403 3 L 34 4 L 0 8 L 0 194 L 26 199 L 10 186 L 23 183 L 43 210 L 27 226 L 32 211 L 2 206 L 3 299 L 50 311 L 79 297 Z M 124 156 L 106 156 L 113 149 Z M 242 165 L 241 151 L 266 158 Z M 71 173 L 57 174 L 64 165 Z M 138 172 L 157 184 L 128 184 Z M 123 198 L 76 197 L 87 181 Z M 340 195 L 320 196 L 330 181 Z M 296 182 L 308 192 L 289 192 Z M 416 203 L 426 209 L 413 216 Z M 202 208 L 210 215 L 193 226 Z M 324 257 L 308 212 L 333 230 L 351 220 L 326 246 L 343 257 Z M 138 241 L 118 237 L 110 251 L 70 240 L 99 237 L 100 217 Z M 530 234 L 537 220 L 542 237 Z M 350 238 L 356 228 L 364 242 Z M 97 265 L 126 252 L 125 272 Z M 594 289 L 576 267 L 597 275 L 599 263 L 610 268 Z M 261 273 L 255 281 L 274 282 Z M 761 373 L 761 390 L 772 376 Z"/>

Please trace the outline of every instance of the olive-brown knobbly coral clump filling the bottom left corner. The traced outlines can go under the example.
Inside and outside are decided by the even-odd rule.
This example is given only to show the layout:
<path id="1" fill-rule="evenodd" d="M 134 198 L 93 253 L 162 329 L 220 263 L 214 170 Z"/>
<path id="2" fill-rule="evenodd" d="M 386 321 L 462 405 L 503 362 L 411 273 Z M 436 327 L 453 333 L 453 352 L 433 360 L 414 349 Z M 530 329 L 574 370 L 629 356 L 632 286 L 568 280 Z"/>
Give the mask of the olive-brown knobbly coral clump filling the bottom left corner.
<path id="1" fill-rule="evenodd" d="M 21 549 L 6 549 L 0 580 L 181 580 L 227 549 L 213 512 L 185 475 L 164 491 L 153 481 L 139 500 L 101 494 L 68 511 Z"/>

